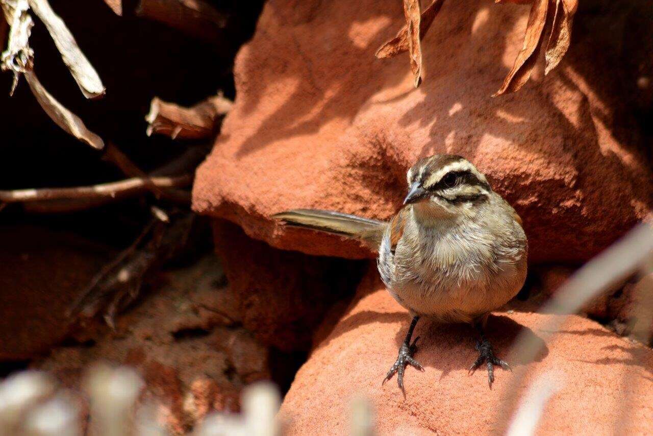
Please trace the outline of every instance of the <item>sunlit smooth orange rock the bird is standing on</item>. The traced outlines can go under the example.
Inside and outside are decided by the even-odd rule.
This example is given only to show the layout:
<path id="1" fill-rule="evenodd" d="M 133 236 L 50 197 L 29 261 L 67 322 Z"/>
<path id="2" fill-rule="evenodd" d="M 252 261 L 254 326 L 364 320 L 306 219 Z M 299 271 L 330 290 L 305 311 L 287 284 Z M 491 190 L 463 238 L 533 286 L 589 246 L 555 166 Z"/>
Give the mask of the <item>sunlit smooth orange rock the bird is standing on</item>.
<path id="1" fill-rule="evenodd" d="M 570 316 L 537 361 L 524 367 L 509 357 L 522 329 L 542 341 L 550 318 L 520 307 L 490 317 L 488 337 L 515 368 L 514 374 L 496 370 L 492 390 L 485 371 L 468 376 L 477 354 L 471 327 L 420 322 L 415 358 L 426 371 L 406 370 L 404 399 L 395 378 L 384 386 L 381 380 L 409 320 L 372 271 L 340 321 L 325 323 L 316 335 L 315 349 L 298 371 L 280 416 L 289 423 L 290 434 L 343 434 L 349 428 L 351 400 L 362 396 L 374 404 L 378 434 L 490 434 L 502 427 L 503 402 L 514 393 L 508 390 L 511 380 L 526 369 L 526 382 L 517 392 L 541 375 L 560 386 L 546 403 L 538 434 L 651 433 L 650 349 Z"/>

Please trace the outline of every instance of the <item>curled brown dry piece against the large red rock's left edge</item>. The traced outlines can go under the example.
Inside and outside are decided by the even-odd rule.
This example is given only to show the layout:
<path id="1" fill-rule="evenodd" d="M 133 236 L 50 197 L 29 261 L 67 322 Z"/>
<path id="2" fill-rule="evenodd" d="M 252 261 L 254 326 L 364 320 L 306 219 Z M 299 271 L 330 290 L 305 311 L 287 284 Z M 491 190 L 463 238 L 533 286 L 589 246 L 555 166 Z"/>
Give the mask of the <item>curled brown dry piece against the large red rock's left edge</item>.
<path id="1" fill-rule="evenodd" d="M 229 112 L 233 103 L 221 93 L 210 97 L 193 107 L 182 107 L 154 97 L 146 133 L 167 135 L 172 139 L 210 139 L 215 134 L 216 125 Z"/>

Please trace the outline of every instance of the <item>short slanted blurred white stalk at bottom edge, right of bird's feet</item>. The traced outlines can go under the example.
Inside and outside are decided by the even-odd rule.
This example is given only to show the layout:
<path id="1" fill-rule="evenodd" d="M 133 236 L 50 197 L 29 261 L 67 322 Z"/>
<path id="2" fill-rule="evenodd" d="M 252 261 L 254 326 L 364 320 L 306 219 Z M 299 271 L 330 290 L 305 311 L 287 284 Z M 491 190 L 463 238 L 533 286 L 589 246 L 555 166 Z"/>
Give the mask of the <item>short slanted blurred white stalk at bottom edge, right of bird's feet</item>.
<path id="1" fill-rule="evenodd" d="M 507 436 L 531 436 L 535 434 L 537 424 L 550 397 L 562 389 L 560 374 L 544 374 L 537 377 L 526 391 L 515 417 L 508 426 Z"/>

